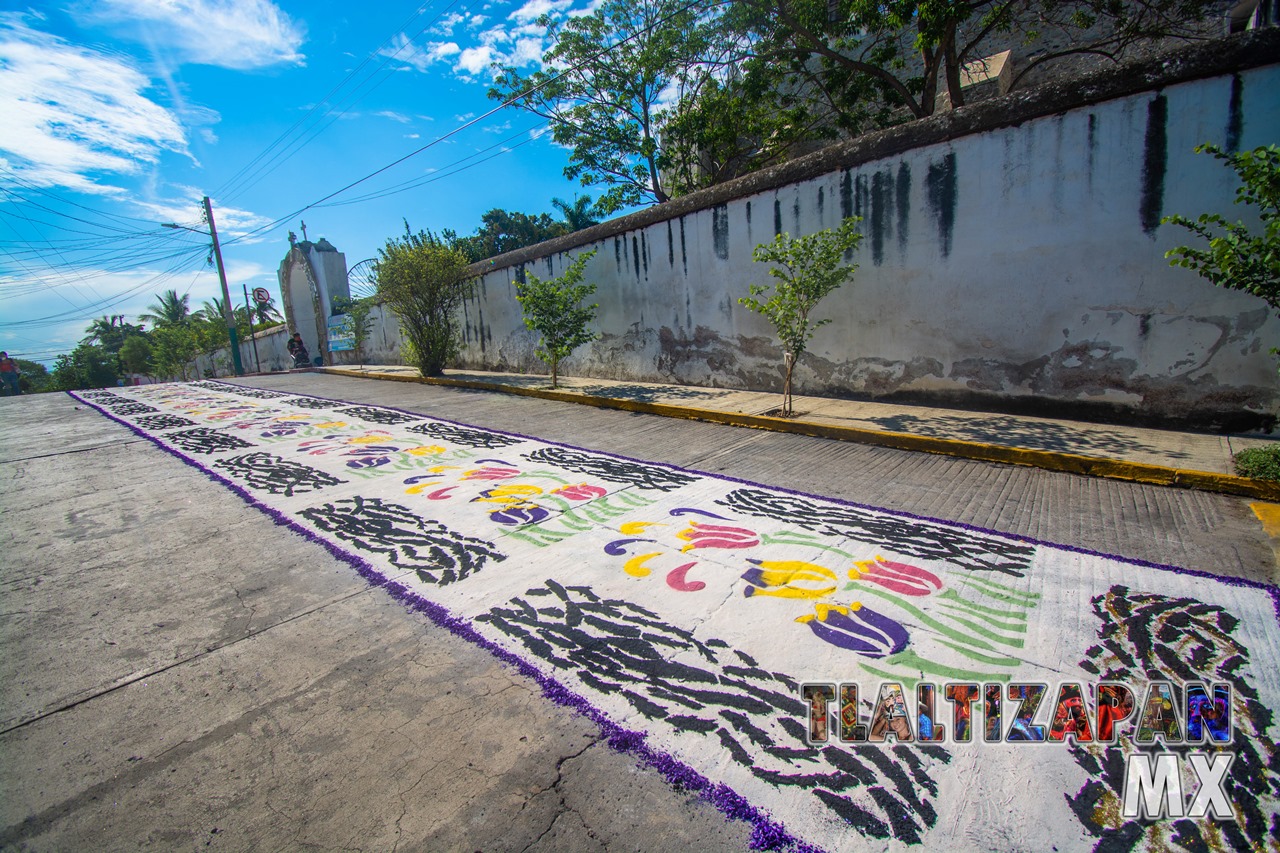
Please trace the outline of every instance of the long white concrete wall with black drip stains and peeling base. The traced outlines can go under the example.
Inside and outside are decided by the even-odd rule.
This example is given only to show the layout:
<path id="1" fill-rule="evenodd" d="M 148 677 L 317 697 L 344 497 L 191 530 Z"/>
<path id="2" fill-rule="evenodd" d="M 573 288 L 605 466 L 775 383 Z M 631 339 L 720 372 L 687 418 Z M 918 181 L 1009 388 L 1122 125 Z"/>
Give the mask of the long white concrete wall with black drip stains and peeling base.
<path id="1" fill-rule="evenodd" d="M 594 250 L 600 339 L 564 373 L 778 389 L 773 330 L 737 304 L 769 280 L 751 250 L 856 215 L 860 268 L 819 306 L 832 323 L 797 393 L 1263 425 L 1280 321 L 1170 268 L 1190 234 L 1160 218 L 1244 213 L 1234 174 L 1193 149 L 1280 140 L 1277 47 L 1253 33 L 1006 96 L 486 261 L 461 366 L 544 371 L 517 282 Z"/>

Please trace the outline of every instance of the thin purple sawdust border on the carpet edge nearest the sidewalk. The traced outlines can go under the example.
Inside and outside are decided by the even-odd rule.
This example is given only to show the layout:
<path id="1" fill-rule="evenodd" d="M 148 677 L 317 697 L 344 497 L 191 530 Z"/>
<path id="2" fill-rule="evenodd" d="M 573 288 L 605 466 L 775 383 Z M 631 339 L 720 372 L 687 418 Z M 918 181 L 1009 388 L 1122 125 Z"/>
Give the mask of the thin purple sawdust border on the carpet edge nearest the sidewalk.
<path id="1" fill-rule="evenodd" d="M 1275 611 L 1276 622 L 1280 624 L 1280 587 L 1277 587 L 1275 584 L 1266 584 L 1266 583 L 1262 583 L 1262 581 L 1258 581 L 1258 580 L 1249 580 L 1248 578 L 1235 578 L 1233 575 L 1215 575 L 1212 573 L 1201 571 L 1198 569 L 1184 569 L 1181 566 L 1174 566 L 1174 565 L 1169 565 L 1169 564 L 1164 564 L 1164 562 L 1152 562 L 1149 560 L 1139 560 L 1137 557 L 1123 557 L 1120 555 L 1107 553 L 1105 551 L 1093 551 L 1091 548 L 1080 548 L 1078 546 L 1068 546 L 1068 544 L 1060 544 L 1057 542 L 1048 542 L 1046 539 L 1036 539 L 1033 537 L 1024 537 L 1024 535 L 1020 535 L 1020 534 L 1016 534 L 1016 533 L 1005 533 L 1002 530 L 992 530 L 989 528 L 980 528 L 978 525 L 965 524 L 963 521 L 951 521 L 951 520 L 947 520 L 947 519 L 936 519 L 936 517 L 932 517 L 932 516 L 928 516 L 928 515 L 916 515 L 914 512 L 906 512 L 904 510 L 888 510 L 888 508 L 879 507 L 879 506 L 872 506 L 870 503 L 859 503 L 856 501 L 845 501 L 845 500 L 841 500 L 841 498 L 827 497 L 827 496 L 823 496 L 823 494 L 813 494 L 812 492 L 800 492 L 797 489 L 788 489 L 788 488 L 783 488 L 783 487 L 780 487 L 780 485 L 765 485 L 763 483 L 756 483 L 754 480 L 744 480 L 744 479 L 740 479 L 740 478 L 736 478 L 736 476 L 728 476 L 726 474 L 709 474 L 707 471 L 699 471 L 696 469 L 680 467 L 678 465 L 669 465 L 667 462 L 653 462 L 653 461 L 649 461 L 649 460 L 635 459 L 634 456 L 623 456 L 622 453 L 611 453 L 608 451 L 591 450 L 591 448 L 588 448 L 588 447 L 579 447 L 577 444 L 567 444 L 564 442 L 557 442 L 557 441 L 552 441 L 552 439 L 547 439 L 547 438 L 538 438 L 535 435 L 525 435 L 524 433 L 513 433 L 513 432 L 504 430 L 504 429 L 494 429 L 492 426 L 476 426 L 475 424 L 465 424 L 465 423 L 462 423 L 460 420 L 451 420 L 448 418 L 440 418 L 439 415 L 425 415 L 425 414 L 422 414 L 420 411 L 411 411 L 408 409 L 397 409 L 396 406 L 383 406 L 380 403 L 358 403 L 358 402 L 351 402 L 351 401 L 346 401 L 346 400 L 334 400 L 333 397 L 320 397 L 317 394 L 282 392 L 282 391 L 275 391 L 274 388 L 255 388 L 253 386 L 238 386 L 238 384 L 232 383 L 232 382 L 221 382 L 221 380 L 218 380 L 218 379 L 205 379 L 205 382 L 212 382 L 212 383 L 216 383 L 216 384 L 220 384 L 220 386 L 229 386 L 232 388 L 244 388 L 244 389 L 248 389 L 248 391 L 270 391 L 273 393 L 282 394 L 282 398 L 284 398 L 284 397 L 311 397 L 314 400 L 323 400 L 325 402 L 335 403 L 335 405 L 339 405 L 339 406 L 371 406 L 374 409 L 385 409 L 388 411 L 401 412 L 402 415 L 413 415 L 416 418 L 422 418 L 424 420 L 438 420 L 438 421 L 442 421 L 442 423 L 445 423 L 445 424 L 453 424 L 454 426 L 465 426 L 467 429 L 480 429 L 480 430 L 489 432 L 489 433 L 498 433 L 499 435 L 511 435 L 512 438 L 520 438 L 522 441 L 538 442 L 538 443 L 541 443 L 541 444 L 552 444 L 552 446 L 556 446 L 556 447 L 564 447 L 564 448 L 568 448 L 568 450 L 576 450 L 576 451 L 581 451 L 584 453 L 595 453 L 598 456 L 609 456 L 612 459 L 618 459 L 618 460 L 622 460 L 625 462 L 636 462 L 639 465 L 652 465 L 654 467 L 664 467 L 664 469 L 668 469 L 668 470 L 672 470 L 672 471 L 680 471 L 682 474 L 696 474 L 698 476 L 704 476 L 704 478 L 708 478 L 708 479 L 723 480 L 726 483 L 739 483 L 741 485 L 751 485 L 751 487 L 755 487 L 755 488 L 768 489 L 768 491 L 772 491 L 772 492 L 781 492 L 782 494 L 794 494 L 796 497 L 812 498 L 812 500 L 815 500 L 815 501 L 826 501 L 827 503 L 838 503 L 841 506 L 849 506 L 849 507 L 854 507 L 854 508 L 858 508 L 858 510 L 869 510 L 872 512 L 882 512 L 884 515 L 891 515 L 891 516 L 896 516 L 896 517 L 900 517 L 900 519 L 911 519 L 914 521 L 927 521 L 929 524 L 937 524 L 937 525 L 942 525 L 942 526 L 947 526 L 947 528 L 960 528 L 961 530 L 970 530 L 973 533 L 982 533 L 984 535 L 1000 537 L 1002 539 L 1009 539 L 1009 540 L 1012 540 L 1012 542 L 1024 542 L 1027 544 L 1032 544 L 1032 546 L 1037 546 L 1037 547 L 1053 548 L 1056 551 L 1068 551 L 1068 552 L 1071 552 L 1071 553 L 1080 553 L 1080 555 L 1085 555 L 1085 556 L 1089 556 L 1089 557 L 1103 557 L 1106 560 L 1115 560 L 1116 562 L 1129 564 L 1130 566 L 1143 566 L 1143 567 L 1147 567 L 1147 569 L 1158 569 L 1161 571 L 1171 571 L 1174 574 L 1190 575 L 1193 578 L 1207 578 L 1210 580 L 1216 580 L 1219 583 L 1224 583 L 1228 587 L 1243 587 L 1243 588 L 1247 588 L 1247 589 L 1261 589 L 1261 590 L 1263 590 L 1263 592 L 1266 592 L 1267 594 L 1271 596 L 1271 606 L 1272 606 L 1272 610 Z M 232 393 L 234 393 L 234 392 L 232 392 Z"/>

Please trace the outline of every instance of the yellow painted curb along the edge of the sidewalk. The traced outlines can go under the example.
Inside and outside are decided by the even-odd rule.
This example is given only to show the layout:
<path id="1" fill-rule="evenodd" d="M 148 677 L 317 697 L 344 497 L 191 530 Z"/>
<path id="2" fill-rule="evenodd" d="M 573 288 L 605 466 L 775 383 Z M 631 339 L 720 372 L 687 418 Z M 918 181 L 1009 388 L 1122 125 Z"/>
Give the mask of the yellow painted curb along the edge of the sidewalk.
<path id="1" fill-rule="evenodd" d="M 613 397 L 596 397 L 594 394 L 585 394 L 573 391 L 522 388 L 520 386 L 507 386 L 497 382 L 480 382 L 475 379 L 367 373 L 358 370 L 343 370 L 342 368 L 326 368 L 325 373 L 355 377 L 357 379 L 381 379 L 390 382 L 411 382 L 426 386 L 444 386 L 449 388 L 470 388 L 472 391 L 495 391 L 518 397 L 538 397 L 541 400 L 554 400 L 557 402 L 595 406 L 596 409 L 614 409 L 645 415 L 660 415 L 663 418 L 684 418 L 686 420 L 701 420 L 713 424 L 727 424 L 731 426 L 768 429 L 777 433 L 832 438 L 836 441 L 855 442 L 860 444 L 892 447 L 895 450 L 956 456 L 980 462 L 1025 465 L 1028 467 L 1039 467 L 1047 471 L 1062 471 L 1068 474 L 1082 474 L 1085 476 L 1098 476 L 1111 480 L 1125 480 L 1129 483 L 1174 485 L 1188 489 L 1199 489 L 1203 492 L 1221 492 L 1224 494 L 1262 498 L 1265 501 L 1280 501 L 1280 483 L 1254 480 L 1248 476 L 1236 476 L 1234 474 L 1183 470 L 1164 465 L 1149 465 L 1147 462 L 1126 462 L 1114 459 L 1102 459 L 1098 456 L 1082 456 L 1078 453 L 1061 453 L 1057 451 L 1006 447 L 1004 444 L 988 444 L 984 442 L 966 442 L 957 438 L 933 438 L 928 435 L 911 435 L 909 433 L 860 429 L 858 426 L 838 426 L 836 424 L 823 424 L 812 420 L 790 420 L 786 418 L 772 418 L 769 415 L 746 415 L 741 412 L 717 411 L 713 409 L 673 406 L 671 403 L 652 403 L 639 402 L 635 400 L 617 400 Z"/>

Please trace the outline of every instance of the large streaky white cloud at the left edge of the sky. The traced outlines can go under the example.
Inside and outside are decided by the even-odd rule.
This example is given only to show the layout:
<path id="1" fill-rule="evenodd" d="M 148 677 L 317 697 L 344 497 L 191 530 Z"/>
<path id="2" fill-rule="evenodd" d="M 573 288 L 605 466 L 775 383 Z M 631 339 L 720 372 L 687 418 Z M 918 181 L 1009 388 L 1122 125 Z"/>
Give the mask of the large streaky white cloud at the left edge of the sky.
<path id="1" fill-rule="evenodd" d="M 143 95 L 123 60 L 0 19 L 0 154 L 24 181 L 119 195 L 95 175 L 137 174 L 172 151 L 189 156 L 175 115 Z"/>

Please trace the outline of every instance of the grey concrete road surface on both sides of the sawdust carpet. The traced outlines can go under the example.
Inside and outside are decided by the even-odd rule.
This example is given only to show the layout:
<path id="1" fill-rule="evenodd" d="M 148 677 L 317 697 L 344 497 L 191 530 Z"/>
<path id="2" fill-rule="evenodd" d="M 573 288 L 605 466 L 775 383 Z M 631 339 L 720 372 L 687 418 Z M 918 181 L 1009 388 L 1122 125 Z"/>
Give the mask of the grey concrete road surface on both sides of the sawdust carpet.
<path id="1" fill-rule="evenodd" d="M 1238 498 L 492 393 L 246 384 L 1276 578 Z M 65 396 L 0 401 L 0 848 L 746 848 L 745 824 Z"/>

